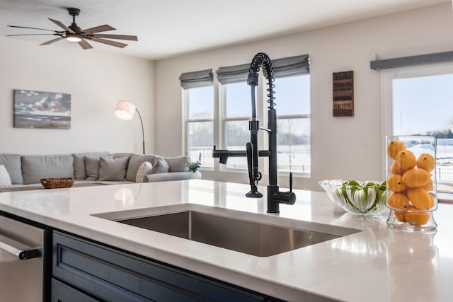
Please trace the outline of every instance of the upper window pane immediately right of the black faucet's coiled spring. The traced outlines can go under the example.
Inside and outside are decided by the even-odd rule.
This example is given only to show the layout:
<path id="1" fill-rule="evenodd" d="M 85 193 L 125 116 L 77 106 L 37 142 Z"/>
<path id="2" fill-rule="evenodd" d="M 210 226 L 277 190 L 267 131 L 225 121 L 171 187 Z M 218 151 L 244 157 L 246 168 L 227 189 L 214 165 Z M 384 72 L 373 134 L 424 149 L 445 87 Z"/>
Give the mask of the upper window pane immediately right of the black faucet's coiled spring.
<path id="1" fill-rule="evenodd" d="M 265 85 L 267 88 L 268 86 Z M 275 79 L 275 110 L 277 115 L 310 113 L 310 76 L 289 76 Z M 267 101 L 268 98 L 266 97 Z"/>

